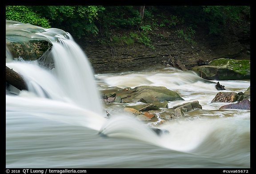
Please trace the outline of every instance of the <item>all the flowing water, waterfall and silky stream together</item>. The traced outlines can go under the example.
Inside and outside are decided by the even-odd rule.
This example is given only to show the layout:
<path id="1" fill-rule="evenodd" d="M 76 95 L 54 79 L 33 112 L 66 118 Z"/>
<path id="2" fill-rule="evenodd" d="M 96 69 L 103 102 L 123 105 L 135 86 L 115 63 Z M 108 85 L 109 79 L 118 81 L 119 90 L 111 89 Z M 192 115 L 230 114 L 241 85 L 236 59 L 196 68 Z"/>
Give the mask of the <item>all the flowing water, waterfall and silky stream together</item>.
<path id="1" fill-rule="evenodd" d="M 59 29 L 39 33 L 53 43 L 55 68 L 10 59 L 28 91 L 6 93 L 6 168 L 250 168 L 250 110 L 219 109 L 219 91 L 192 71 L 156 67 L 144 71 L 94 74 L 72 36 Z M 8 53 L 8 51 L 6 51 Z M 10 55 L 8 55 L 10 58 Z M 217 82 L 217 81 L 214 81 Z M 245 92 L 250 80 L 220 81 L 228 91 Z M 114 87 L 165 86 L 202 109 L 167 120 L 156 135 L 144 122 L 113 104 L 106 117 L 100 91 Z M 101 132 L 101 134 L 99 134 Z M 102 134 L 106 136 L 102 136 Z"/>

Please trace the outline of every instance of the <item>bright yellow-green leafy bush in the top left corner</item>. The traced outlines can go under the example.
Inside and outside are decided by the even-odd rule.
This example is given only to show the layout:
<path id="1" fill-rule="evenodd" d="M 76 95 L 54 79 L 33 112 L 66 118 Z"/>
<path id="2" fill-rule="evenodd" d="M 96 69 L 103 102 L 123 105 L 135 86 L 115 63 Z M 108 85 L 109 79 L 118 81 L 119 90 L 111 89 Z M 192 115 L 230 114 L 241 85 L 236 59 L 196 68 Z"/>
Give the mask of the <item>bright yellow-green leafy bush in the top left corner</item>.
<path id="1" fill-rule="evenodd" d="M 27 6 L 5 6 L 5 19 L 22 23 L 30 23 L 39 27 L 50 28 L 48 19 L 36 12 L 32 12 Z"/>

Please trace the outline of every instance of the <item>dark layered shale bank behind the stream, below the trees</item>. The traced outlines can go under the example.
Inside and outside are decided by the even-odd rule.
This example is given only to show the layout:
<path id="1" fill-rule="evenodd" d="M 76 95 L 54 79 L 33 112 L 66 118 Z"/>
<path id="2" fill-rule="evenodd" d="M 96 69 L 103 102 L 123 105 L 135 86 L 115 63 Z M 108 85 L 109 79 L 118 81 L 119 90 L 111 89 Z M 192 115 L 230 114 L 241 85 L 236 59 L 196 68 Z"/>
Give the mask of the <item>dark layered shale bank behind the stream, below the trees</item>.
<path id="1" fill-rule="evenodd" d="M 142 43 L 133 45 L 101 44 L 99 38 L 80 39 L 78 44 L 87 54 L 95 73 L 144 70 L 164 64 L 171 55 L 188 70 L 197 66 L 197 61 L 211 61 L 216 58 L 250 59 L 250 32 L 230 27 L 220 35 L 209 35 L 203 29 L 196 32 L 188 43 L 179 38 L 175 31 L 161 30 L 160 36 L 150 36 L 155 50 Z"/>

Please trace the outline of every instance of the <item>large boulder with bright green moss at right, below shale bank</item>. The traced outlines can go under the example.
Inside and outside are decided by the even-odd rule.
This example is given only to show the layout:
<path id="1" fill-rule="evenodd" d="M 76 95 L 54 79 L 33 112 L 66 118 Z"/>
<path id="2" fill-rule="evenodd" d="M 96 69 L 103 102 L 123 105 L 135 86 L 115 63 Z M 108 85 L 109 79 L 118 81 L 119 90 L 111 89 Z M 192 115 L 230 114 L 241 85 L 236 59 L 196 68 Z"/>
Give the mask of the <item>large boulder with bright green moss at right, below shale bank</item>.
<path id="1" fill-rule="evenodd" d="M 218 58 L 209 62 L 209 65 L 195 66 L 192 70 L 208 80 L 250 79 L 250 60 Z"/>

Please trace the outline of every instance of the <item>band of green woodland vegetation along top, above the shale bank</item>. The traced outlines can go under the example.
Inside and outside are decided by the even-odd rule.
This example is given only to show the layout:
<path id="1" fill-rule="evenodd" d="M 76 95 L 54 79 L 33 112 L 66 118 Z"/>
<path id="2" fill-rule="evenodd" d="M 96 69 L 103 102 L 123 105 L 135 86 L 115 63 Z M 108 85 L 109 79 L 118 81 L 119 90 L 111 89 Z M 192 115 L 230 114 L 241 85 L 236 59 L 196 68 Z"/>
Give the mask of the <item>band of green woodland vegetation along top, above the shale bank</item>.
<path id="1" fill-rule="evenodd" d="M 154 49 L 151 36 L 164 39 L 158 32 L 163 28 L 191 44 L 199 28 L 209 35 L 233 26 L 249 32 L 250 6 L 6 6 L 6 19 L 60 28 L 74 39 L 128 46 L 140 42 Z"/>

